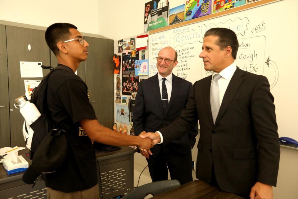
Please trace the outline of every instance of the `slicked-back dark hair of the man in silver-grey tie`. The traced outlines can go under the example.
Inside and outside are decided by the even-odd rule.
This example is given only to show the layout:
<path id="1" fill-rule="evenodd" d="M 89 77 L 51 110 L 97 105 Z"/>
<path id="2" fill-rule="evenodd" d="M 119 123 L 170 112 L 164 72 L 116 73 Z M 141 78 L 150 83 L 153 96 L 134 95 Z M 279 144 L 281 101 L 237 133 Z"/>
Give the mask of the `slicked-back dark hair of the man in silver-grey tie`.
<path id="1" fill-rule="evenodd" d="M 234 59 L 236 59 L 239 43 L 237 35 L 233 32 L 233 30 L 230 30 L 228 28 L 211 28 L 210 30 L 207 30 L 207 32 L 205 32 L 204 37 L 209 35 L 218 36 L 216 45 L 218 45 L 221 50 L 223 50 L 227 46 L 231 46 L 232 56 Z"/>

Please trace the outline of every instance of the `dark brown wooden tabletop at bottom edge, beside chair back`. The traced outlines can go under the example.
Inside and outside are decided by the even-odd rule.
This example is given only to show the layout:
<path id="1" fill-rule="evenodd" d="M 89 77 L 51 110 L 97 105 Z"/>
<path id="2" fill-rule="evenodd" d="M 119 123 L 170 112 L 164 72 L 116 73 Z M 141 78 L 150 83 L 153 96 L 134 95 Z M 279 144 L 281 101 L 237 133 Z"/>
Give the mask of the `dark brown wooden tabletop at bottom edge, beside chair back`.
<path id="1" fill-rule="evenodd" d="M 200 180 L 194 180 L 192 182 L 176 187 L 170 191 L 161 193 L 152 197 L 152 199 L 241 199 L 242 197 L 236 196 L 232 193 L 221 191 L 217 187 L 213 187 Z"/>

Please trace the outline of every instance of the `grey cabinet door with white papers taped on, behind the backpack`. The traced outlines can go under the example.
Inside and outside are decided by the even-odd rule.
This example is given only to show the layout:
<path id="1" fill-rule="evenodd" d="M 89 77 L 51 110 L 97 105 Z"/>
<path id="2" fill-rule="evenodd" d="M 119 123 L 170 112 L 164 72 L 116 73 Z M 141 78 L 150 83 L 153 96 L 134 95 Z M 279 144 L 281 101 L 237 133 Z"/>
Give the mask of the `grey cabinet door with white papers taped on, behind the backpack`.
<path id="1" fill-rule="evenodd" d="M 34 30 L 15 26 L 6 26 L 7 39 L 7 63 L 9 85 L 9 109 L 10 109 L 10 135 L 11 146 L 25 146 L 22 134 L 24 118 L 13 104 L 14 100 L 25 95 L 24 80 L 41 80 L 42 78 L 21 78 L 20 61 L 42 62 L 50 64 L 50 49 L 44 39 L 44 30 Z M 28 44 L 31 50 L 28 50 Z M 43 76 L 48 70 L 43 69 Z"/>

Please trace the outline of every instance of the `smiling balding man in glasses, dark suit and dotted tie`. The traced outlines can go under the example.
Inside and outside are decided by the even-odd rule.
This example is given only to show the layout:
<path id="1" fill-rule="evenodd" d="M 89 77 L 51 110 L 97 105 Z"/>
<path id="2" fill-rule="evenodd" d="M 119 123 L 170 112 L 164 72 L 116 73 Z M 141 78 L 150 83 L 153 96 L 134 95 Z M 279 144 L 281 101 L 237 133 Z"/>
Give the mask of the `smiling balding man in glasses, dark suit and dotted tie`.
<path id="1" fill-rule="evenodd" d="M 192 83 L 172 73 L 177 65 L 177 52 L 171 47 L 160 50 L 156 67 L 158 73 L 139 83 L 136 104 L 133 110 L 135 135 L 155 132 L 172 123 L 185 108 Z M 192 147 L 196 143 L 198 126 L 187 130 L 167 144 L 155 145 L 149 155 L 140 151 L 148 161 L 153 182 L 171 179 L 181 184 L 192 181 Z M 151 151 L 150 154 L 151 154 Z"/>

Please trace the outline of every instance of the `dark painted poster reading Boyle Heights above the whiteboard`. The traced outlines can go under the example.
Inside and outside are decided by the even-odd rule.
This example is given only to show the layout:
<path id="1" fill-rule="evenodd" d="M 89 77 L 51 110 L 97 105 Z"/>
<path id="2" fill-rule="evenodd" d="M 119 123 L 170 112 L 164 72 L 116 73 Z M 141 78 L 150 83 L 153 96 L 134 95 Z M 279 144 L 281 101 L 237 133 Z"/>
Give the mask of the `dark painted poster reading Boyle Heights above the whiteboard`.
<path id="1" fill-rule="evenodd" d="M 145 3 L 144 32 L 165 27 L 169 21 L 168 0 L 153 0 Z"/>

